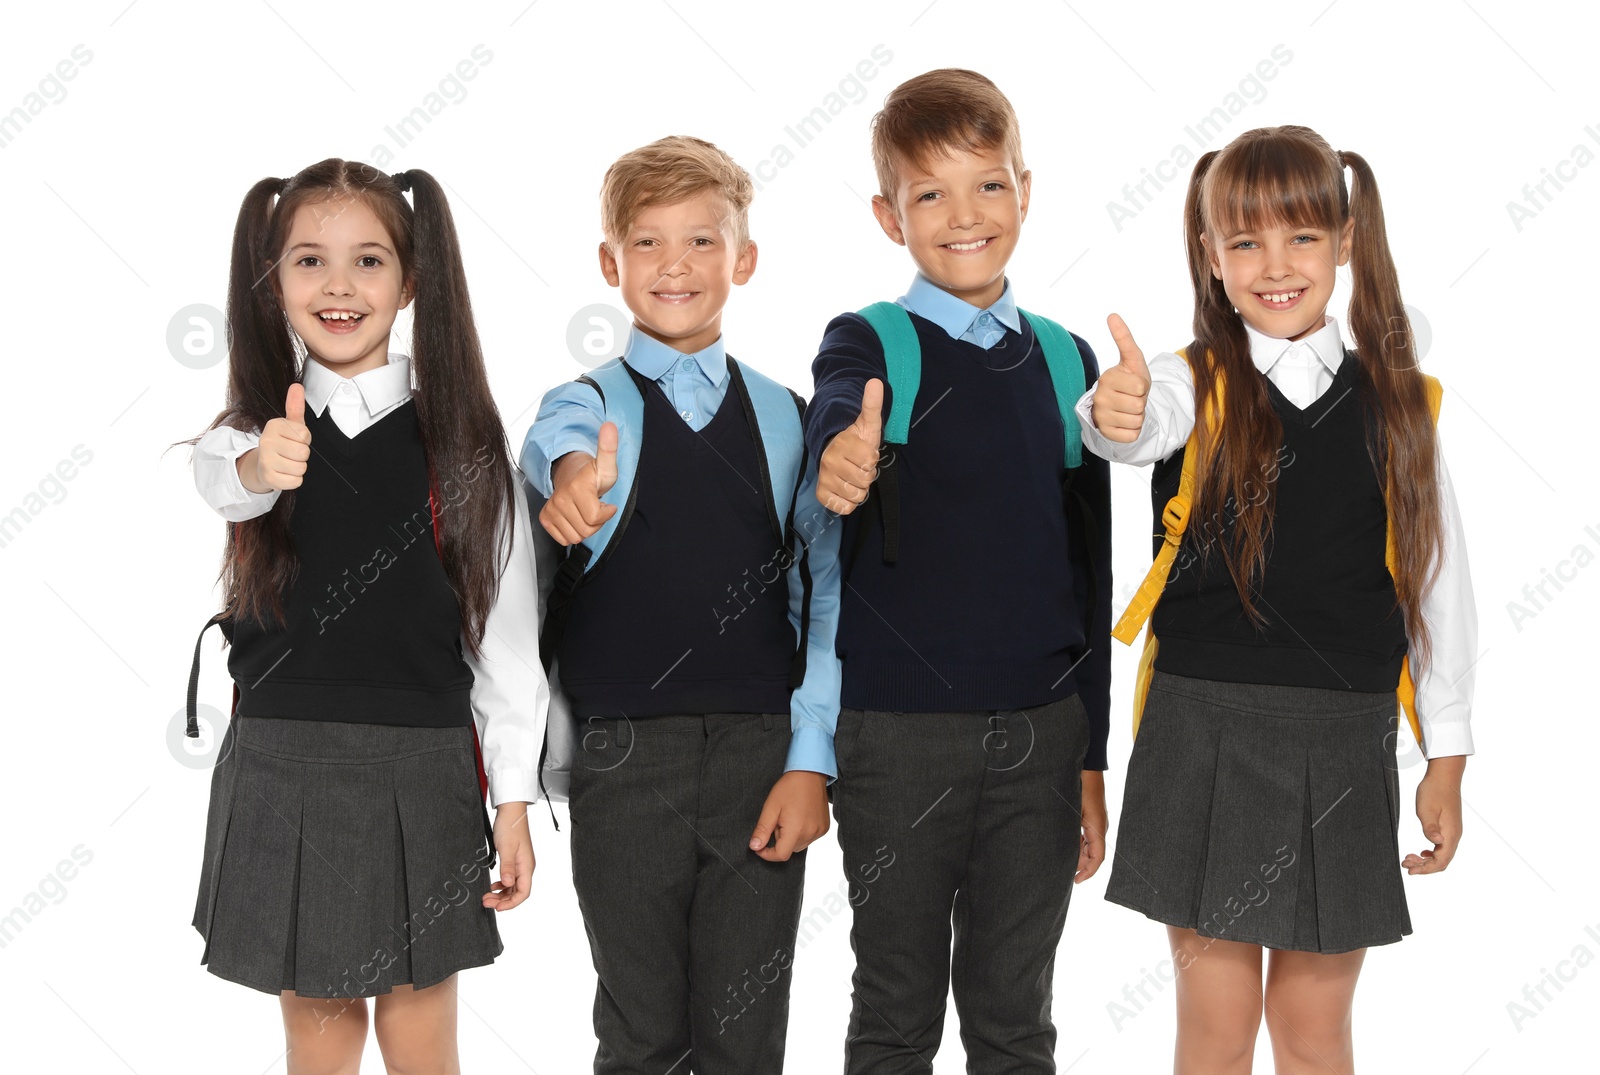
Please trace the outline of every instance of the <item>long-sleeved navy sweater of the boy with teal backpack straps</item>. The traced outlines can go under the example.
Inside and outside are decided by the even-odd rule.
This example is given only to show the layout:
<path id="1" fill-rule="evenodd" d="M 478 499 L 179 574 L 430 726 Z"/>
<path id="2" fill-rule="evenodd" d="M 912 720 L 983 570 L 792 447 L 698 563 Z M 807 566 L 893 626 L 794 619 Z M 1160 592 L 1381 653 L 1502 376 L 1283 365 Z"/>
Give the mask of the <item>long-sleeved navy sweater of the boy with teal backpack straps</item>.
<path id="1" fill-rule="evenodd" d="M 883 561 L 882 522 L 869 498 L 842 534 L 840 702 L 950 712 L 1021 709 L 1077 693 L 1091 728 L 1086 766 L 1104 769 L 1109 467 L 1085 453 L 1072 472 L 1072 494 L 1091 507 L 1085 541 L 1069 523 L 1061 413 L 1027 322 L 989 350 L 915 314 L 912 325 L 922 342 L 914 429 L 886 462 L 898 469 L 899 558 Z M 1074 339 L 1093 384 L 1094 354 Z M 883 347 L 856 314 L 829 323 L 811 371 L 805 435 L 813 458 L 856 419 L 870 378 L 885 379 L 885 413 L 893 403 Z"/>

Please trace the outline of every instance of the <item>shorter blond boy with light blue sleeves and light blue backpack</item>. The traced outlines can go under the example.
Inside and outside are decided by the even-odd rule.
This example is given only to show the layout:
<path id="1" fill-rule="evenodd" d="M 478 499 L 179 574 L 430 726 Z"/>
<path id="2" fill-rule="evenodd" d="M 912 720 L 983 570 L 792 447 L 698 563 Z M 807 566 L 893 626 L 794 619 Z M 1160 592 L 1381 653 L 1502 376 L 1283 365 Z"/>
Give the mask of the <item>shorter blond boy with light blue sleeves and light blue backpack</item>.
<path id="1" fill-rule="evenodd" d="M 755 270 L 750 195 L 694 138 L 611 165 L 600 270 L 634 314 L 627 350 L 546 394 L 523 445 L 570 547 L 539 648 L 581 742 L 595 1072 L 782 1069 L 803 849 L 829 824 L 838 528 L 798 397 L 722 342 Z"/>

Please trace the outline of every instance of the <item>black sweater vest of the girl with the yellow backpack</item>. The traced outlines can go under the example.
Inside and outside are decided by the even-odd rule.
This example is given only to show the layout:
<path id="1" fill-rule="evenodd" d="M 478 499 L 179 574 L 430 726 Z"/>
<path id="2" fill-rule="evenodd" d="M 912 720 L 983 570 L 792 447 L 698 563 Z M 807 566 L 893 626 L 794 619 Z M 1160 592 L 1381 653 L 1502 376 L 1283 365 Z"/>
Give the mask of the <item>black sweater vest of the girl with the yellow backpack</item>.
<path id="1" fill-rule="evenodd" d="M 1230 683 L 1272 683 L 1344 691 L 1392 691 L 1406 653 L 1405 617 L 1384 561 L 1387 506 L 1368 453 L 1374 416 L 1363 403 L 1352 354 L 1333 386 L 1304 411 L 1267 381 L 1283 421 L 1283 446 L 1258 478 L 1277 504 L 1267 565 L 1253 595 L 1266 625 L 1240 605 L 1221 550 L 1240 509 L 1190 517 L 1184 545 L 1152 616 L 1160 638 L 1155 667 Z M 1155 466 L 1155 528 L 1178 491 L 1184 453 Z M 1275 480 L 1274 480 L 1275 477 Z M 1259 498 L 1243 510 L 1261 510 Z M 1160 545 L 1160 538 L 1155 541 Z M 1210 555 L 1206 555 L 1210 553 Z"/>

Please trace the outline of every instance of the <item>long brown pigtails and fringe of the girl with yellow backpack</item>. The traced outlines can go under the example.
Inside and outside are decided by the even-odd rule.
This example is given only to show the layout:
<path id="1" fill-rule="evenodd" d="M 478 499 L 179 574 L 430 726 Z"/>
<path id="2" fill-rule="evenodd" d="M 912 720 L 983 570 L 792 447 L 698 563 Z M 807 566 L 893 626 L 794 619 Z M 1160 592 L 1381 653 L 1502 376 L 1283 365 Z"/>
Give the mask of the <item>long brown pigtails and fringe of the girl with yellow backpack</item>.
<path id="1" fill-rule="evenodd" d="M 1354 179 L 1349 187 L 1346 168 Z M 1259 502 L 1259 510 L 1238 512 L 1232 542 L 1219 544 L 1245 614 L 1264 622 L 1251 593 L 1266 568 L 1275 496 L 1272 483 L 1264 501 L 1251 498 L 1248 490 L 1274 469 L 1283 424 L 1267 398 L 1266 379 L 1251 362 L 1245 322 L 1211 274 L 1202 238 L 1210 235 L 1216 242 L 1219 234 L 1283 224 L 1322 227 L 1338 242 L 1352 219 L 1349 323 L 1360 358 L 1362 398 L 1376 418 L 1370 424 L 1368 454 L 1387 483 L 1395 593 L 1406 637 L 1416 661 L 1426 662 L 1430 638 L 1422 622 L 1422 595 L 1443 557 L 1434 419 L 1373 170 L 1357 154 L 1334 152 L 1306 126 L 1246 131 L 1226 149 L 1200 157 L 1189 179 L 1184 237 L 1195 293 L 1195 339 L 1187 352 L 1195 374 L 1195 414 L 1210 414 L 1221 395 L 1219 427 L 1197 419 L 1206 462 L 1195 483 L 1192 514 L 1211 518 L 1229 501 Z M 1219 392 L 1222 384 L 1226 390 Z"/>

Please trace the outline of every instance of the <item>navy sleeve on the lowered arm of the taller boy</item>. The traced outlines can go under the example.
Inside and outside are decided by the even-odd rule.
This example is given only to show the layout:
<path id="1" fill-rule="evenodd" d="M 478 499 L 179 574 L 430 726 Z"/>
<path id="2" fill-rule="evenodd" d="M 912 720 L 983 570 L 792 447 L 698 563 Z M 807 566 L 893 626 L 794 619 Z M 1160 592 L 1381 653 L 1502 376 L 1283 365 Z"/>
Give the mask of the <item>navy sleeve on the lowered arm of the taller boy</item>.
<path id="1" fill-rule="evenodd" d="M 1083 379 L 1093 386 L 1099 378 L 1099 362 L 1088 342 L 1074 333 L 1078 354 L 1083 358 Z M 1179 362 L 1182 362 L 1179 358 Z M 1083 424 L 1088 443 L 1088 421 Z M 1072 501 L 1080 526 L 1074 538 L 1083 536 L 1086 549 L 1072 557 L 1072 595 L 1078 608 L 1093 609 L 1083 632 L 1085 649 L 1077 657 L 1074 677 L 1078 683 L 1078 701 L 1090 718 L 1090 749 L 1083 760 L 1086 769 L 1106 769 L 1106 741 L 1110 737 L 1110 464 L 1104 458 L 1086 454 L 1083 466 L 1072 478 Z"/>

